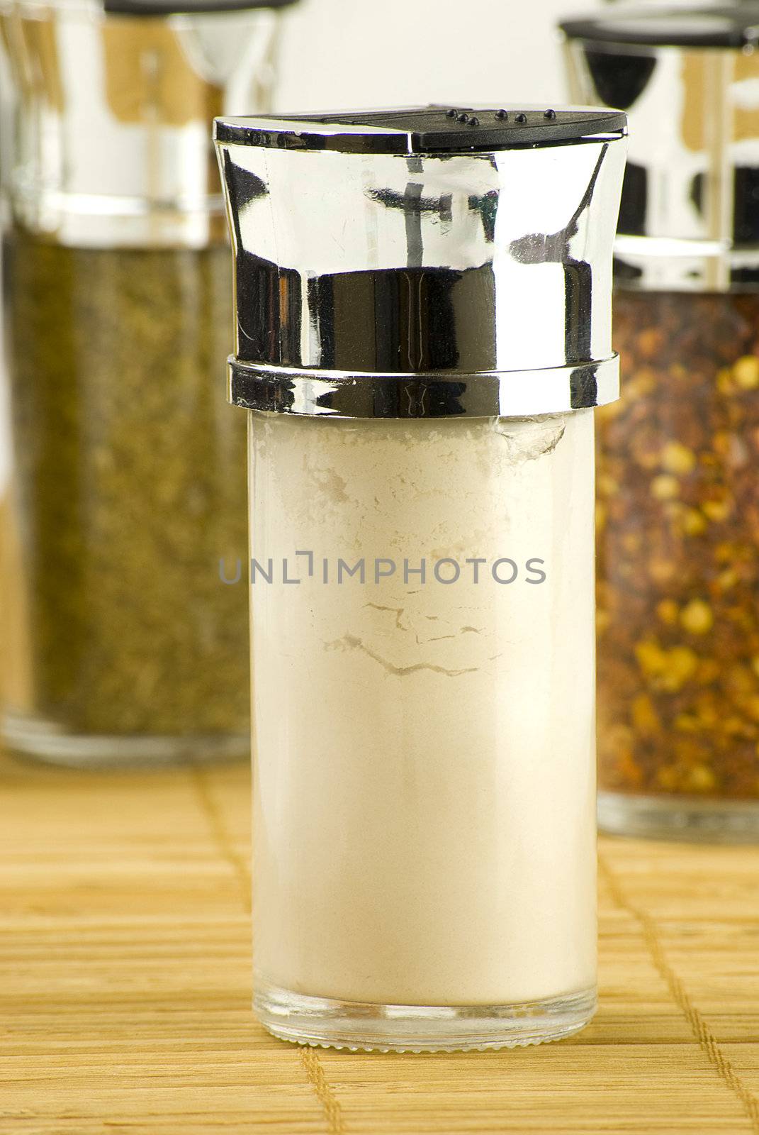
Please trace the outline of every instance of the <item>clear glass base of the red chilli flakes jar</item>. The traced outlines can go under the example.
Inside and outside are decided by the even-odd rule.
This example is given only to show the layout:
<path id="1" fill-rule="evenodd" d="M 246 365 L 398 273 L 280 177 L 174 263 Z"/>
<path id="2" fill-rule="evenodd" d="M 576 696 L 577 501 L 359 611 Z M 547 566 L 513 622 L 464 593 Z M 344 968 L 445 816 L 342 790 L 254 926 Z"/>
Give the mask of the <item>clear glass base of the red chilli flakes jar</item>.
<path id="1" fill-rule="evenodd" d="M 610 835 L 699 843 L 758 843 L 759 800 L 598 793 L 598 826 Z"/>

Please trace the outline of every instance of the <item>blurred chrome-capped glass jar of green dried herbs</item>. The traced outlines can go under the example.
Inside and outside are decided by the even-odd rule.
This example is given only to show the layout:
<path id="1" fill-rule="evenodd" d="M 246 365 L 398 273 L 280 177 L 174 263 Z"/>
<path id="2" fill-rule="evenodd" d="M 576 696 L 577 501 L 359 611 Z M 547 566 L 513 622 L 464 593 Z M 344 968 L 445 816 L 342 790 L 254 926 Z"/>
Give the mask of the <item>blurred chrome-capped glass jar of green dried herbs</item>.
<path id="1" fill-rule="evenodd" d="M 245 436 L 219 382 L 231 259 L 210 123 L 265 109 L 279 6 L 0 9 L 15 751 L 248 749 Z"/>

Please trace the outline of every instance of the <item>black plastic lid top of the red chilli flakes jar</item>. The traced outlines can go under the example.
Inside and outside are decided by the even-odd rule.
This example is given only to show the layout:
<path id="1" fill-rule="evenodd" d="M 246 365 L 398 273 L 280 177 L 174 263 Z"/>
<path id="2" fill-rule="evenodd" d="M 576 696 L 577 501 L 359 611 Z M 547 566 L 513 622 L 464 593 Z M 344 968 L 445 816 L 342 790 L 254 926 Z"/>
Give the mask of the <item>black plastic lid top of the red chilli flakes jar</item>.
<path id="1" fill-rule="evenodd" d="M 573 17 L 559 27 L 571 40 L 657 48 L 753 48 L 759 43 L 759 3 L 688 8 L 618 8 Z"/>

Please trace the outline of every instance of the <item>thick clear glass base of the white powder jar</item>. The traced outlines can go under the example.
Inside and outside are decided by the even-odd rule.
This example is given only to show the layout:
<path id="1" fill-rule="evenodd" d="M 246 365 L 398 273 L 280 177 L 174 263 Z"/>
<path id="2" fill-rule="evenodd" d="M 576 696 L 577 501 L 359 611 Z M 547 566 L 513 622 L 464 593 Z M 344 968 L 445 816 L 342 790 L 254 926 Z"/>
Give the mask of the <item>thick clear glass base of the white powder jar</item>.
<path id="1" fill-rule="evenodd" d="M 496 1006 L 377 1004 L 306 997 L 255 980 L 253 1010 L 282 1041 L 352 1052 L 470 1052 L 560 1041 L 596 1012 L 596 989 Z"/>

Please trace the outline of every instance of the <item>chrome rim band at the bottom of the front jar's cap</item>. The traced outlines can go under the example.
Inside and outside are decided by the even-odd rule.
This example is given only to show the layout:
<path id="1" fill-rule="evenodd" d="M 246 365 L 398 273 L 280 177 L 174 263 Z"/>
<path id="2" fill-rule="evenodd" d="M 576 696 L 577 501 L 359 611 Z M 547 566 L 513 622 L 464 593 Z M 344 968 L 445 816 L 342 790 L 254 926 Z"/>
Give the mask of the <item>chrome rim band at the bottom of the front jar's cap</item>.
<path id="1" fill-rule="evenodd" d="M 328 418 L 531 418 L 619 397 L 619 360 L 543 370 L 376 375 L 229 359 L 229 401 L 264 413 Z"/>

